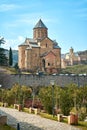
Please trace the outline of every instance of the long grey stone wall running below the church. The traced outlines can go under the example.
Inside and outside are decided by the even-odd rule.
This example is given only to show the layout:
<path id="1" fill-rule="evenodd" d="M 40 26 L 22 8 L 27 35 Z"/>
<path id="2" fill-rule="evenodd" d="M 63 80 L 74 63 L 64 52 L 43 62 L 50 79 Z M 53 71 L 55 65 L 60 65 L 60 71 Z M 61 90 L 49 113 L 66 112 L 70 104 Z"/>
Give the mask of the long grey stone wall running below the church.
<path id="1" fill-rule="evenodd" d="M 87 75 L 30 75 L 30 74 L 11 74 L 3 79 L 4 87 L 11 88 L 15 83 L 26 86 L 50 86 L 50 81 L 54 80 L 55 85 L 64 87 L 70 83 L 75 83 L 79 87 L 87 84 Z"/>

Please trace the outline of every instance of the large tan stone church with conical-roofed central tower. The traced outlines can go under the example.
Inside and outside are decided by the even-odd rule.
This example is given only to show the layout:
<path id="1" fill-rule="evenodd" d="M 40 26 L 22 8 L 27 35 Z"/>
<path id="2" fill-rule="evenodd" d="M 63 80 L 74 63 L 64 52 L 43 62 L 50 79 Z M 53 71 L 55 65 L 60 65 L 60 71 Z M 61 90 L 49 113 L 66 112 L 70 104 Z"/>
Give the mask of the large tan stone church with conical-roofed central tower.
<path id="1" fill-rule="evenodd" d="M 33 38 L 18 46 L 21 70 L 57 73 L 61 68 L 61 48 L 48 37 L 48 28 L 40 19 L 33 28 Z"/>

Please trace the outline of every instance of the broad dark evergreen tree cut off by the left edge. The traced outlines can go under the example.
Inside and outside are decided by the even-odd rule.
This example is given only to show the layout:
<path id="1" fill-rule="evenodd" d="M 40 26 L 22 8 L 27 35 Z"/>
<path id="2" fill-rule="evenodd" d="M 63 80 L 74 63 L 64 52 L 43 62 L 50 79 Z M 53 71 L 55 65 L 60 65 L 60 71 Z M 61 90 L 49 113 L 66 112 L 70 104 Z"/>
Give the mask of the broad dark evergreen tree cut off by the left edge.
<path id="1" fill-rule="evenodd" d="M 1 44 L 4 44 L 5 40 L 4 38 L 0 37 L 0 65 L 8 65 L 8 58 L 6 57 L 5 54 L 5 49 L 1 48 Z"/>

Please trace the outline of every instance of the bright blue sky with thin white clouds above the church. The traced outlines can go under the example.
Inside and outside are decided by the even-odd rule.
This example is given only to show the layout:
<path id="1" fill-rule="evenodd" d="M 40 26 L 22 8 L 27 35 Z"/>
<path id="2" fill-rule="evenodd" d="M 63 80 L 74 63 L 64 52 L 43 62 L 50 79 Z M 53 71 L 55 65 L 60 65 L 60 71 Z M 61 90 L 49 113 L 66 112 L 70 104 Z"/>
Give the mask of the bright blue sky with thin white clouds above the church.
<path id="1" fill-rule="evenodd" d="M 42 19 L 48 37 L 56 40 L 62 53 L 87 50 L 87 0 L 1 0 L 0 36 L 2 47 L 18 49 Z"/>

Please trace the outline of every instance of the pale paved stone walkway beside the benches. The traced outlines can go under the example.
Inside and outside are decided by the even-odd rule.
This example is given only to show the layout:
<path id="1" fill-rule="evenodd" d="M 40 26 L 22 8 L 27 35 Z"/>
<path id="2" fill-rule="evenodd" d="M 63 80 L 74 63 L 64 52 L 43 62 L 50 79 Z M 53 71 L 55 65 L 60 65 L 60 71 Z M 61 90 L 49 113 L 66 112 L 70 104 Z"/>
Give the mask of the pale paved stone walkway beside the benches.
<path id="1" fill-rule="evenodd" d="M 74 126 L 45 119 L 39 115 L 19 112 L 16 109 L 0 107 L 0 114 L 7 115 L 7 124 L 17 128 L 20 123 L 21 130 L 79 130 Z"/>

